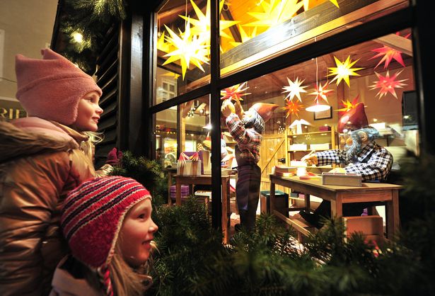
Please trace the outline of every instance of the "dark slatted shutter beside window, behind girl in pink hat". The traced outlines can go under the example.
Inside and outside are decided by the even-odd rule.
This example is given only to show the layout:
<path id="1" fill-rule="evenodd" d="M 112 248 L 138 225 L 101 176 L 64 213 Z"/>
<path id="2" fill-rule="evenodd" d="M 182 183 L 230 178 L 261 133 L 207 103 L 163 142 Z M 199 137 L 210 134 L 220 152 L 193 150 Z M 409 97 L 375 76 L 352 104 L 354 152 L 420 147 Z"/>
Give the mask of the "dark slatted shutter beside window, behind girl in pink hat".
<path id="1" fill-rule="evenodd" d="M 120 96 L 120 26 L 113 25 L 106 34 L 103 50 L 98 57 L 97 84 L 103 90 L 100 107 L 104 112 L 98 123 L 98 132 L 104 140 L 95 147 L 95 168 L 105 163 L 110 149 L 119 147 L 119 96 Z"/>

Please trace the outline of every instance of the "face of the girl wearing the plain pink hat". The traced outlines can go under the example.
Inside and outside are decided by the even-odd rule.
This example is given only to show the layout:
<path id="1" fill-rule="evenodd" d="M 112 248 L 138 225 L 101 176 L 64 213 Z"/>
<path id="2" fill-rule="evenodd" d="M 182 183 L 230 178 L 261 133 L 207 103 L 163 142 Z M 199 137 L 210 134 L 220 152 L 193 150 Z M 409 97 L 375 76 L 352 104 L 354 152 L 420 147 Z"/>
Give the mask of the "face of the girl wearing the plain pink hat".
<path id="1" fill-rule="evenodd" d="M 96 91 L 86 93 L 79 101 L 77 119 L 71 127 L 79 132 L 96 132 L 98 130 L 98 120 L 103 113 L 103 109 L 98 106 L 100 96 Z"/>

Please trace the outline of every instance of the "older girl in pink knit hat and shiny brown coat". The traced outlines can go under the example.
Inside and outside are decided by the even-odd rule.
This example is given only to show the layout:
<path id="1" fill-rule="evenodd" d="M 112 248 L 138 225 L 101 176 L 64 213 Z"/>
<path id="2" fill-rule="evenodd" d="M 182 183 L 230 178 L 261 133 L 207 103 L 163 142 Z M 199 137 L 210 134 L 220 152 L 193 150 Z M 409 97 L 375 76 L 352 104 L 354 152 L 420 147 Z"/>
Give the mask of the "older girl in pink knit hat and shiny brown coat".
<path id="1" fill-rule="evenodd" d="M 95 176 L 102 95 L 91 76 L 56 52 L 16 56 L 18 101 L 28 118 L 0 122 L 1 295 L 47 295 L 67 247 L 59 228 L 69 190 Z"/>

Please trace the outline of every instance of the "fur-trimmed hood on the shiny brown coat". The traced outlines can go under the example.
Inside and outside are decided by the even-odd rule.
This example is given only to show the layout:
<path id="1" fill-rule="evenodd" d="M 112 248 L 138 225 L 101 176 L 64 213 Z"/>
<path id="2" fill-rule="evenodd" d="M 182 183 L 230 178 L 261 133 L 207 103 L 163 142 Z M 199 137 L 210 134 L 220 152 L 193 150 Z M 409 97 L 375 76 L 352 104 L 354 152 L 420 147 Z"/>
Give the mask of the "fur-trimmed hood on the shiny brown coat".
<path id="1" fill-rule="evenodd" d="M 76 130 L 42 118 L 0 121 L 0 163 L 37 153 L 76 149 L 87 140 L 88 136 Z"/>

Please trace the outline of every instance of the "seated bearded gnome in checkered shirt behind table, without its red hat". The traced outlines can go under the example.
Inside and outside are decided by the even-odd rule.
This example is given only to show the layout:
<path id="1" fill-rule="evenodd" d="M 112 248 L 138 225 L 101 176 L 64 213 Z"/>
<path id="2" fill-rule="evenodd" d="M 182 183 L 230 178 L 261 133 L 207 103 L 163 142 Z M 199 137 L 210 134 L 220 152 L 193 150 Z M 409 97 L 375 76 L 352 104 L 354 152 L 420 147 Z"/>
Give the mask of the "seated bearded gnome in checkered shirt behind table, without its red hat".
<path id="1" fill-rule="evenodd" d="M 301 160 L 306 161 L 309 165 L 344 165 L 343 172 L 359 173 L 362 176 L 362 181 L 383 181 L 390 173 L 393 156 L 387 149 L 376 144 L 374 140 L 377 137 L 379 137 L 379 133 L 373 127 L 368 126 L 353 130 L 349 132 L 344 149 L 316 152 L 303 157 Z M 337 169 L 332 171 L 337 171 Z M 343 216 L 360 216 L 368 205 L 367 203 L 344 203 Z M 299 215 L 315 227 L 320 228 L 323 226 L 320 217 L 330 217 L 330 213 L 330 201 L 323 200 L 313 213 L 303 210 L 299 212 Z"/>

